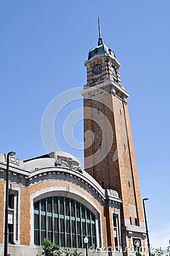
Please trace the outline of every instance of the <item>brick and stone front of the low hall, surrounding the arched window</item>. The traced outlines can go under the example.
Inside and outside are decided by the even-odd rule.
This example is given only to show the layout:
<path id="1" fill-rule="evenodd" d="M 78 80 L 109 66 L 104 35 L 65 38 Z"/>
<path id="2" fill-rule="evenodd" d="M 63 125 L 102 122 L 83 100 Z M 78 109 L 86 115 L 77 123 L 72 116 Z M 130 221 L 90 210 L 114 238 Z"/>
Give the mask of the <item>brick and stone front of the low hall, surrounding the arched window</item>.
<path id="1" fill-rule="evenodd" d="M 62 152 L 60 152 L 60 155 L 61 154 Z M 67 155 L 67 159 L 70 159 L 70 155 Z M 0 220 L 0 255 L 3 255 L 5 220 L 4 179 L 6 170 L 4 155 L 0 155 L 0 168 L 1 201 L 3 202 L 1 204 Z M 19 251 L 22 251 L 22 255 L 35 255 L 40 253 L 40 247 L 34 244 L 33 203 L 37 199 L 43 199 L 51 195 L 73 198 L 95 213 L 97 230 L 99 230 L 97 233 L 96 246 L 104 246 L 106 249 L 108 246 L 113 246 L 111 210 L 116 210 L 120 216 L 121 200 L 116 191 L 114 191 L 114 195 L 111 195 L 108 189 L 101 188 L 85 171 L 79 169 L 75 170 L 72 167 L 62 167 L 61 165 L 57 166 L 55 158 L 44 158 L 44 156 L 42 156 L 42 159 L 31 159 L 25 163 L 19 160 L 18 166 L 10 162 L 8 193 L 11 194 L 16 191 L 18 192 L 15 200 L 17 208 L 14 207 L 13 224 L 16 228 L 17 236 L 15 236 L 14 245 L 8 245 L 8 253 L 14 256 L 18 255 Z M 15 215 L 19 216 L 18 220 Z M 8 223 L 10 223 L 10 220 L 8 221 Z M 16 222 L 18 225 L 16 225 Z"/>

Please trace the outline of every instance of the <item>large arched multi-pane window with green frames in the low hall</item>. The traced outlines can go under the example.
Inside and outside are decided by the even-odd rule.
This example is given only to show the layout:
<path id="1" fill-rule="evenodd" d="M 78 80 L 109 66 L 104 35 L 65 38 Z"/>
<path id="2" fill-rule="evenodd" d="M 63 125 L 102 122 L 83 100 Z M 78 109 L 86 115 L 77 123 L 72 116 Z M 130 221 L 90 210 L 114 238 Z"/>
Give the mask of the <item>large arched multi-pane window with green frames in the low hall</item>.
<path id="1" fill-rule="evenodd" d="M 76 200 L 52 196 L 33 204 L 34 243 L 42 245 L 48 237 L 61 247 L 83 248 L 84 237 L 88 246 L 96 247 L 95 214 Z"/>

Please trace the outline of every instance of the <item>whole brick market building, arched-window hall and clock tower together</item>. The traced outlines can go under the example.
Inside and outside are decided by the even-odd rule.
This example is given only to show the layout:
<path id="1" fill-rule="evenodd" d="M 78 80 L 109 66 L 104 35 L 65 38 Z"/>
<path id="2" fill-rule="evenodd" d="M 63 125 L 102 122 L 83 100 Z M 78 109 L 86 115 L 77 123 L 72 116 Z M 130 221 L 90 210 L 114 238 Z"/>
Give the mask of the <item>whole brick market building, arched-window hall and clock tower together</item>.
<path id="1" fill-rule="evenodd" d="M 89 255 L 146 254 L 146 230 L 120 63 L 100 36 L 85 62 L 84 169 L 66 152 L 10 156 L 8 253 L 40 255 L 44 238 Z M 0 155 L 0 255 L 5 229 L 6 155 Z M 105 248 L 105 249 L 103 249 Z M 103 252 L 105 250 L 105 252 Z"/>

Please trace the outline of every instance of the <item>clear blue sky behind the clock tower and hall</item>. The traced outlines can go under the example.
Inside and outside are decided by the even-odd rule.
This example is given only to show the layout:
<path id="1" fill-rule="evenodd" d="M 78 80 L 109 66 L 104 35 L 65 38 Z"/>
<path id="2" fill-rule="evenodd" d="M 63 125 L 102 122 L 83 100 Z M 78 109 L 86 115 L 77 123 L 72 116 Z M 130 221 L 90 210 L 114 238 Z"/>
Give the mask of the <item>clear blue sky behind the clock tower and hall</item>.
<path id="1" fill-rule="evenodd" d="M 88 51 L 101 36 L 121 63 L 128 99 L 141 197 L 146 201 L 152 247 L 166 247 L 169 220 L 169 11 L 168 0 L 1 1 L 0 152 L 24 160 L 45 154 L 41 119 L 59 93 L 86 84 Z M 61 150 L 77 158 L 83 150 L 67 145 L 63 122 L 71 102 L 58 114 L 54 134 Z M 80 114 L 80 119 L 83 116 Z M 74 127 L 83 142 L 83 122 Z"/>

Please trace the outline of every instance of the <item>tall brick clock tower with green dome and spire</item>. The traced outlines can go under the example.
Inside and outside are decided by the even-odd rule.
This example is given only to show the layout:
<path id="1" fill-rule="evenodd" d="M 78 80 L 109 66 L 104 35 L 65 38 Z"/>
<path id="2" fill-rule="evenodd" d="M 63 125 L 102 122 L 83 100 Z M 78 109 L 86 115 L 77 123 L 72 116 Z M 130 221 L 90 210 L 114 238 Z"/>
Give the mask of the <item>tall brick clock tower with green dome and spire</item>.
<path id="1" fill-rule="evenodd" d="M 84 167 L 104 189 L 122 199 L 121 246 L 145 246 L 145 224 L 131 136 L 129 94 L 120 80 L 120 63 L 100 36 L 88 52 L 84 85 Z M 108 240 L 108 246 L 111 246 Z M 116 245 L 114 245 L 116 246 Z M 126 254 L 126 253 L 125 253 Z M 129 254 L 129 253 L 128 253 Z"/>

